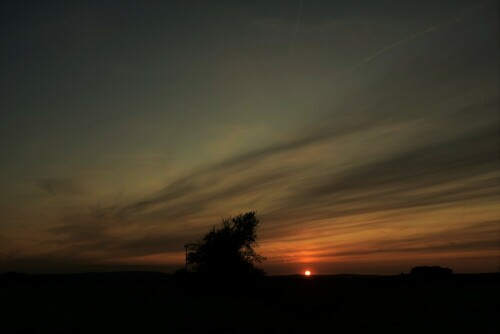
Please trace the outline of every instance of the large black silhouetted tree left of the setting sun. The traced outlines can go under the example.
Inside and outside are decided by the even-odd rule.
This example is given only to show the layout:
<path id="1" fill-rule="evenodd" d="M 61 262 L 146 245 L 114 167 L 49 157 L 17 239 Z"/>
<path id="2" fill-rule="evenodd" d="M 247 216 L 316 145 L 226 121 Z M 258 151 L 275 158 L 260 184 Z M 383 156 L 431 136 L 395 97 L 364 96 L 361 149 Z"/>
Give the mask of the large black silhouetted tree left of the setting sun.
<path id="1" fill-rule="evenodd" d="M 190 243 L 187 262 L 194 271 L 207 276 L 249 277 L 263 275 L 255 267 L 265 257 L 256 253 L 257 226 L 254 211 L 222 219 L 200 242 Z"/>

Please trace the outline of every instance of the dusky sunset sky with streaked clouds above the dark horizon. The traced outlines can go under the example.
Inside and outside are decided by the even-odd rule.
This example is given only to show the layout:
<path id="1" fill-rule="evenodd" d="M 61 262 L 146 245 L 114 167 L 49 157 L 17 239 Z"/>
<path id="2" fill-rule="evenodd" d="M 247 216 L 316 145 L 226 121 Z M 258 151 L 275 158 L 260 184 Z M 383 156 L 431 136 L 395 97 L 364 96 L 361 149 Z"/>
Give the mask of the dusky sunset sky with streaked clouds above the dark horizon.
<path id="1" fill-rule="evenodd" d="M 0 271 L 500 268 L 498 1 L 2 1 Z"/>

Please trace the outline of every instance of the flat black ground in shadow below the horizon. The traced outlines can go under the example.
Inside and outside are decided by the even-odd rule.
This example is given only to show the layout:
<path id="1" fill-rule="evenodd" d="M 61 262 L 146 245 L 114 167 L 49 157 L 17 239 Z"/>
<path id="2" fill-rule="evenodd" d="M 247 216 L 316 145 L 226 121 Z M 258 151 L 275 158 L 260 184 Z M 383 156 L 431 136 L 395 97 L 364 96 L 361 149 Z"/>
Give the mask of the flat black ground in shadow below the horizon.
<path id="1" fill-rule="evenodd" d="M 0 333 L 500 333 L 500 276 L 0 275 Z"/>

